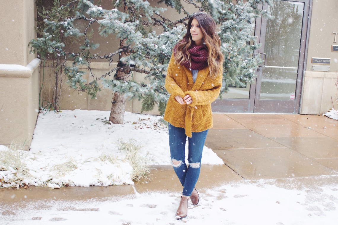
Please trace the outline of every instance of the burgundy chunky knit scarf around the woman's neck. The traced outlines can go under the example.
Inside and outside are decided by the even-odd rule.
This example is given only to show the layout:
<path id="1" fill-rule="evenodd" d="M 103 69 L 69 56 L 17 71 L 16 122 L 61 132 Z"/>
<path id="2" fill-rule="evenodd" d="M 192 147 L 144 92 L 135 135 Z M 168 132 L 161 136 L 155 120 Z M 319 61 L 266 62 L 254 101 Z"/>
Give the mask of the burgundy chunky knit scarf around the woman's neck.
<path id="1" fill-rule="evenodd" d="M 176 56 L 177 45 L 174 47 L 174 56 Z M 208 66 L 208 51 L 204 48 L 203 45 L 196 46 L 193 44 L 188 50 L 190 54 L 190 62 L 189 60 L 183 62 L 182 64 L 187 69 L 204 69 Z M 190 66 L 191 63 L 191 66 Z"/>

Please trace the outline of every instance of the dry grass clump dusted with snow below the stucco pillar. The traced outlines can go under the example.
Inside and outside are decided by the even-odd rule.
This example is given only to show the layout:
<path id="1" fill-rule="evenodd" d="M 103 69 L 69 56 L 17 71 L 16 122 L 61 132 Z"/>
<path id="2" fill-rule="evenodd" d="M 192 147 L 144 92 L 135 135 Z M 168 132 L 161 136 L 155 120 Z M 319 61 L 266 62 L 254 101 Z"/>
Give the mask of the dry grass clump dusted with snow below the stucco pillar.
<path id="1" fill-rule="evenodd" d="M 27 154 L 24 151 L 24 144 L 12 142 L 8 150 L 1 151 L 0 171 L 7 171 L 6 178 L 0 175 L 0 187 L 15 187 L 19 189 L 25 186 L 24 177 L 31 176 L 24 158 Z"/>

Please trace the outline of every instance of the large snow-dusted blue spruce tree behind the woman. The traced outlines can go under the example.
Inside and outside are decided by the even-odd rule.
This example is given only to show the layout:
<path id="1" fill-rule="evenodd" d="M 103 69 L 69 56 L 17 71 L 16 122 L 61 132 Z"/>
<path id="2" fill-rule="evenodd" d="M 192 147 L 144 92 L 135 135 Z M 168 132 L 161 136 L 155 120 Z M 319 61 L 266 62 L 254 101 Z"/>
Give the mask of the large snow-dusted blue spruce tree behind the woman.
<path id="1" fill-rule="evenodd" d="M 229 85 L 244 86 L 252 82 L 255 69 L 261 63 L 259 56 L 254 57 L 252 52 L 259 48 L 258 43 L 248 45 L 255 41 L 252 29 L 255 18 L 266 16 L 266 11 L 258 9 L 258 5 L 268 0 L 248 0 L 243 3 L 237 0 L 161 0 L 167 8 L 152 7 L 148 1 L 142 0 L 113 0 L 113 9 L 103 9 L 92 1 L 71 1 L 77 3 L 75 16 L 65 18 L 63 21 L 45 19 L 46 31 L 36 40 L 31 40 L 29 47 L 32 51 L 56 53 L 66 60 L 72 60 L 72 66 L 63 64 L 72 88 L 87 91 L 95 98 L 100 90 L 98 80 L 103 79 L 106 88 L 114 92 L 112 110 L 109 120 L 113 123 L 122 123 L 126 99 L 138 98 L 143 100 L 142 110 L 153 109 L 157 104 L 159 111 L 164 113 L 168 93 L 164 88 L 164 80 L 172 48 L 186 32 L 187 21 L 191 17 L 182 2 L 195 8 L 196 12 L 207 12 L 216 21 L 221 38 L 221 50 L 224 52 L 223 64 L 224 86 L 221 93 L 228 90 Z M 64 7 L 64 6 L 63 6 Z M 59 10 L 64 8 L 60 7 Z M 162 16 L 165 10 L 175 10 L 182 15 L 176 21 L 170 21 Z M 191 10 L 189 10 L 191 11 Z M 176 12 L 176 13 L 177 13 Z M 80 22 L 79 22 L 80 21 Z M 79 24 L 85 22 L 81 30 Z M 119 48 L 113 53 L 104 55 L 93 54 L 98 44 L 92 43 L 88 32 L 93 23 L 99 24 L 99 33 L 104 37 L 115 35 L 120 40 Z M 64 43 L 52 38 L 48 30 L 62 26 L 66 37 L 81 37 L 84 42 L 78 52 L 71 52 L 65 48 Z M 83 24 L 82 24 L 83 27 Z M 156 33 L 158 27 L 163 32 Z M 97 32 L 97 31 L 94 31 Z M 100 77 L 95 77 L 91 71 L 91 61 L 107 59 L 113 62 L 114 55 L 119 56 L 117 67 Z M 87 83 L 82 78 L 83 71 L 79 65 L 85 64 L 89 68 L 93 82 Z M 130 73 L 136 71 L 145 73 L 148 82 L 137 83 L 130 79 Z M 114 75 L 114 76 L 113 76 Z"/>

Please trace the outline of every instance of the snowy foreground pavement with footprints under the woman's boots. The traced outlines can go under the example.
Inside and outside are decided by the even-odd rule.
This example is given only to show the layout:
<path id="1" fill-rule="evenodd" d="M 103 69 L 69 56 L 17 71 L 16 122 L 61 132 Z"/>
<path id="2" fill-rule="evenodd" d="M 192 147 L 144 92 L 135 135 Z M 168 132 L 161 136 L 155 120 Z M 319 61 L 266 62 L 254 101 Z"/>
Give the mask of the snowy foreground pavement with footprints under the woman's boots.
<path id="1" fill-rule="evenodd" d="M 0 209 L 0 224 L 335 225 L 336 185 L 297 190 L 243 181 L 200 190 L 199 205 L 189 201 L 188 217 L 182 221 L 175 219 L 179 193 L 173 192 L 135 192 L 87 201 L 21 201 Z"/>

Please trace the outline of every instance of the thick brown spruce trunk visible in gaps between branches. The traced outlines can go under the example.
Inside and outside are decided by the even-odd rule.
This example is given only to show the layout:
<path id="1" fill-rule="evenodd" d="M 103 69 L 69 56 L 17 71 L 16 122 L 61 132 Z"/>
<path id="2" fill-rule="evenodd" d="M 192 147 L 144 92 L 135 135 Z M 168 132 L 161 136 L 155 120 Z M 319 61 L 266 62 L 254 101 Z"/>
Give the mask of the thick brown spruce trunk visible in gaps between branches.
<path id="1" fill-rule="evenodd" d="M 120 41 L 120 49 L 126 46 L 125 42 L 126 42 L 125 39 Z M 119 62 L 120 62 L 120 58 L 128 56 L 128 55 L 130 55 L 130 53 L 127 51 L 121 52 L 121 54 L 119 54 Z M 124 69 L 120 68 L 117 71 L 116 79 L 128 81 L 129 80 L 128 73 L 129 71 L 125 71 Z M 109 121 L 115 124 L 123 124 L 125 107 L 126 107 L 126 97 L 120 92 L 115 92 L 114 97 L 113 97 L 113 102 L 112 102 L 112 108 L 110 110 Z"/>

